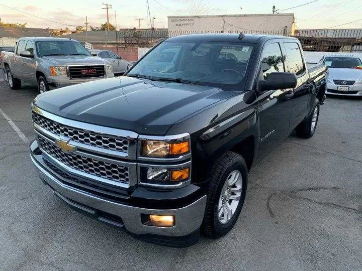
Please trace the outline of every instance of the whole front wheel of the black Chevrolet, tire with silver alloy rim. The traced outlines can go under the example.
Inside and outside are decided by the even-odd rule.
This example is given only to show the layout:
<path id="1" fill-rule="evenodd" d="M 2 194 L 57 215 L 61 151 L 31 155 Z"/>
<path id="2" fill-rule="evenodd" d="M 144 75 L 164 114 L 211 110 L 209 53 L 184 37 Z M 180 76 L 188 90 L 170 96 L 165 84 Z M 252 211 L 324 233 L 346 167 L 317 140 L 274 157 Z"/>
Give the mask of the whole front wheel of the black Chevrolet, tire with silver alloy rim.
<path id="1" fill-rule="evenodd" d="M 237 174 L 239 178 L 236 177 Z M 230 186 L 228 182 L 232 183 L 235 179 L 237 179 L 236 183 Z M 206 236 L 217 239 L 234 227 L 244 204 L 246 188 L 245 160 L 237 153 L 226 152 L 214 163 L 211 170 L 202 224 L 202 230 Z M 236 203 L 234 199 L 238 197 L 239 201 Z M 226 207 L 227 204 L 229 207 Z M 225 214 L 231 214 L 231 217 Z"/>

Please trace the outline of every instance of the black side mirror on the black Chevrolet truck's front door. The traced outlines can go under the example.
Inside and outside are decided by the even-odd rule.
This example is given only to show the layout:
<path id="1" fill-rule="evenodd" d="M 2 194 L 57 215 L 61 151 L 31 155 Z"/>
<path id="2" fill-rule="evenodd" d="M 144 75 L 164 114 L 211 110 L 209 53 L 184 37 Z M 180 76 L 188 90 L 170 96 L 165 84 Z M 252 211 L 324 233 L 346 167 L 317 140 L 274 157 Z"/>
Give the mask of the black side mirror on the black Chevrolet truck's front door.
<path id="1" fill-rule="evenodd" d="M 272 89 L 295 88 L 297 86 L 297 75 L 292 72 L 271 72 L 266 80 L 259 81 L 259 91 Z"/>

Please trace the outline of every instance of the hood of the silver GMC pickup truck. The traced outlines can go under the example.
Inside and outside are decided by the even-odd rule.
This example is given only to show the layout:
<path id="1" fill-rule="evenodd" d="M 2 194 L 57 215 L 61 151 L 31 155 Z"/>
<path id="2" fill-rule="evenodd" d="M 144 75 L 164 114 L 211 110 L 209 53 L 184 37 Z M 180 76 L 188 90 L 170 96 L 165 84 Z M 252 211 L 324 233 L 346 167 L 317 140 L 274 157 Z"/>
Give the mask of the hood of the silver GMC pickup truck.
<path id="1" fill-rule="evenodd" d="M 109 62 L 94 56 L 44 56 L 41 57 L 57 66 L 71 66 L 71 65 L 104 65 Z"/>

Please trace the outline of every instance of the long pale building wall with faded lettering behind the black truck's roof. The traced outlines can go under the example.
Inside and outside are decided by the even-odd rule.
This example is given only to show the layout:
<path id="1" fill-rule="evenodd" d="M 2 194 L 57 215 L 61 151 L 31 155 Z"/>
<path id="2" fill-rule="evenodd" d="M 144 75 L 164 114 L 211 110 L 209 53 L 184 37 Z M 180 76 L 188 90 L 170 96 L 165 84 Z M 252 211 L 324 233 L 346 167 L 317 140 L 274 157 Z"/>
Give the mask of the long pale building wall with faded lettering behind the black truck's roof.
<path id="1" fill-rule="evenodd" d="M 293 13 L 168 17 L 169 31 L 291 31 L 293 24 Z"/>

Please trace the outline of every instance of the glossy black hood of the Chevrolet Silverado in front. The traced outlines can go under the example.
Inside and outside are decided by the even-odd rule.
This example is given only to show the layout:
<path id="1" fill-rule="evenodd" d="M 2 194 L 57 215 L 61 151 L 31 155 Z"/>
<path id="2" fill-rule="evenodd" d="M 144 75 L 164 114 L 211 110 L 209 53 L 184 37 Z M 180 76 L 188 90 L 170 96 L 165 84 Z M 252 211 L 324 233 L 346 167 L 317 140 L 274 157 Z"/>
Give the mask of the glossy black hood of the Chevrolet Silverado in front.
<path id="1" fill-rule="evenodd" d="M 233 95 L 210 86 L 121 76 L 46 92 L 35 105 L 73 120 L 163 135 L 176 121 Z"/>

